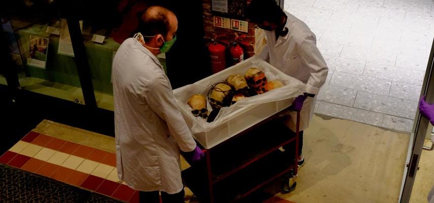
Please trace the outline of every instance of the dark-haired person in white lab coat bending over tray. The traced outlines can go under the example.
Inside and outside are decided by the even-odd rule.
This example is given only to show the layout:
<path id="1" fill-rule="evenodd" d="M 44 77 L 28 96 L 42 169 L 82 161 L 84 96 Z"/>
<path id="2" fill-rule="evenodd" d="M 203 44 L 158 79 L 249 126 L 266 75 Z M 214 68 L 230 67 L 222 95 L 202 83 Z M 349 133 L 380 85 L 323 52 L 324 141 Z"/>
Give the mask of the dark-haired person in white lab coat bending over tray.
<path id="1" fill-rule="evenodd" d="M 303 95 L 295 98 L 294 110 L 301 109 L 299 166 L 302 154 L 303 130 L 309 126 L 315 107 L 315 95 L 326 82 L 329 69 L 316 47 L 316 37 L 300 19 L 283 11 L 273 0 L 251 0 L 245 15 L 257 28 L 265 30 L 267 40 L 260 56 L 271 65 L 306 84 Z M 297 113 L 288 112 L 285 124 L 296 131 Z M 287 149 L 288 146 L 284 147 Z"/>

